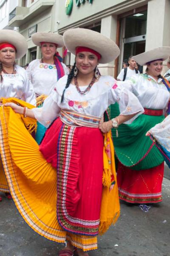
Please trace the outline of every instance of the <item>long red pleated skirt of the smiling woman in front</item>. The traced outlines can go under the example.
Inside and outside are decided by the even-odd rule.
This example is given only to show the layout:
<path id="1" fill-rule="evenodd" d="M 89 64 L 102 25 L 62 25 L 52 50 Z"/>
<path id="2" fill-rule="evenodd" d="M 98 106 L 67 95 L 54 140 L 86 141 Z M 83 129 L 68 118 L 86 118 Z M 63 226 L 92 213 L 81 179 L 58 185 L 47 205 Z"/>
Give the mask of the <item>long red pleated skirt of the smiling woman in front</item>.
<path id="1" fill-rule="evenodd" d="M 103 136 L 99 128 L 71 127 L 59 118 L 40 144 L 57 168 L 57 219 L 71 233 L 96 236 L 102 199 Z"/>

